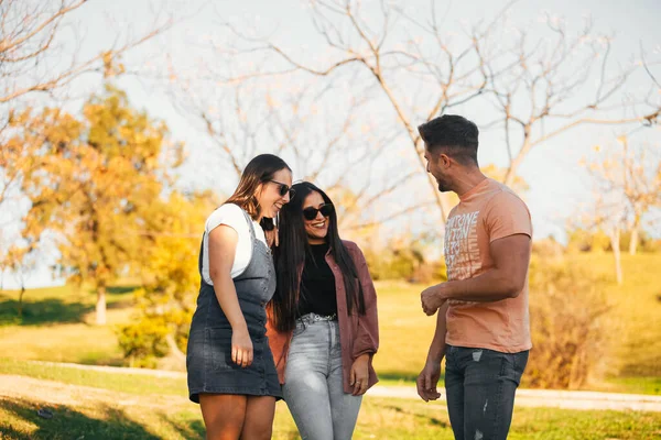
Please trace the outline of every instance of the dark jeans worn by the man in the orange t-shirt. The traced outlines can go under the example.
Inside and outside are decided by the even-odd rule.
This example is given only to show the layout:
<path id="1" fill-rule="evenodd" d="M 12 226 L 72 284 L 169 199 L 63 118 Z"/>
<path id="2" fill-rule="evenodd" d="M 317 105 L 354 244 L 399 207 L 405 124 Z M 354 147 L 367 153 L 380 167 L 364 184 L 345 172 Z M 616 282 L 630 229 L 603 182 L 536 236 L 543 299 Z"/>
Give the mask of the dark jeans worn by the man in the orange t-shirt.
<path id="1" fill-rule="evenodd" d="M 445 392 L 456 440 L 506 440 L 528 351 L 447 345 Z"/>

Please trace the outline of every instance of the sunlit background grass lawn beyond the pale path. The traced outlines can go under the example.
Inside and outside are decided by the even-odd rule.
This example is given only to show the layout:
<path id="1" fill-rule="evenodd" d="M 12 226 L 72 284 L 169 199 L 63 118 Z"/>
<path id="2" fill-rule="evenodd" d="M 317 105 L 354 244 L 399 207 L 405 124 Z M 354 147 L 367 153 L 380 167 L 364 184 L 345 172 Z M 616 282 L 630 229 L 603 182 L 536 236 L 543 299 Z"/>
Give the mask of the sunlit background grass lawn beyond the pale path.
<path id="1" fill-rule="evenodd" d="M 582 254 L 571 258 L 610 277 L 611 257 Z M 614 355 L 624 374 L 592 384 L 590 389 L 661 394 L 661 277 L 655 275 L 661 255 L 622 255 L 622 263 L 625 284 L 607 288 L 619 318 L 616 331 L 621 343 Z M 422 367 L 435 324 L 435 317 L 421 311 L 424 287 L 377 283 L 381 345 L 375 367 L 384 384 L 412 384 Z M 31 289 L 24 295 L 23 317 L 18 319 L 18 293 L 1 292 L 0 353 L 15 360 L 126 364 L 115 329 L 131 319 L 132 289 L 109 289 L 108 326 L 94 324 L 95 300 L 87 289 Z"/>

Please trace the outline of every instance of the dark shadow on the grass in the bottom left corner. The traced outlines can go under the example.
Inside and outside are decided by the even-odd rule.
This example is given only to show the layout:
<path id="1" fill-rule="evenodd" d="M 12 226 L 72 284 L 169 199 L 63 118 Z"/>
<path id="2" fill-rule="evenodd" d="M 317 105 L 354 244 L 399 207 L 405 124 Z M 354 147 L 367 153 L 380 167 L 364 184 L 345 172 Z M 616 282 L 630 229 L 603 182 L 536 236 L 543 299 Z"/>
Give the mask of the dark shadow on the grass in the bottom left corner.
<path id="1" fill-rule="evenodd" d="M 3 439 L 159 439 L 143 426 L 130 420 L 123 410 L 104 407 L 99 418 L 94 418 L 66 405 L 36 406 L 21 400 L 4 399 L 2 409 L 10 420 L 0 421 L 0 438 Z M 39 409 L 53 413 L 50 419 L 37 415 Z M 12 420 L 13 419 L 13 420 Z M 12 424 L 12 421 L 15 424 Z M 30 424 L 30 432 L 21 429 Z"/>

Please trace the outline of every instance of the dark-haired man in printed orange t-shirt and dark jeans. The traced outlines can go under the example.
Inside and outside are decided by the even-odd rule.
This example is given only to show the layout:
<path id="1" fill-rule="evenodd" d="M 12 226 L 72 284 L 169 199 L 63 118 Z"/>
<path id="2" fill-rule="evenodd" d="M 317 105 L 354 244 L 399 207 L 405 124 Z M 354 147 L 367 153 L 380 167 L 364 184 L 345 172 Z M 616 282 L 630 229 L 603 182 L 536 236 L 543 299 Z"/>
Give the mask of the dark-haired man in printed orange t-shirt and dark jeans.
<path id="1" fill-rule="evenodd" d="M 418 130 L 438 190 L 459 196 L 445 224 L 447 282 L 421 294 L 425 314 L 438 316 L 418 394 L 425 402 L 441 396 L 436 385 L 445 356 L 455 439 L 505 440 L 532 346 L 530 212 L 511 189 L 479 170 L 475 123 L 445 114 Z"/>

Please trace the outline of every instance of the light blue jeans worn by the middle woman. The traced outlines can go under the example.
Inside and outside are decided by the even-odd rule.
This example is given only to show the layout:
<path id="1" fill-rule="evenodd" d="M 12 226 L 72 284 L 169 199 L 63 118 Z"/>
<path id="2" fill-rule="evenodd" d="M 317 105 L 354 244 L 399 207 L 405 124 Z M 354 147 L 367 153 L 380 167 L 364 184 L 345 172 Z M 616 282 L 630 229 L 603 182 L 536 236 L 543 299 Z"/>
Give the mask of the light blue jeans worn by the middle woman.
<path id="1" fill-rule="evenodd" d="M 296 320 L 282 387 L 301 438 L 349 440 L 362 396 L 345 394 L 339 326 L 315 314 Z"/>

